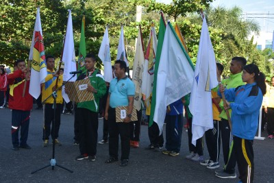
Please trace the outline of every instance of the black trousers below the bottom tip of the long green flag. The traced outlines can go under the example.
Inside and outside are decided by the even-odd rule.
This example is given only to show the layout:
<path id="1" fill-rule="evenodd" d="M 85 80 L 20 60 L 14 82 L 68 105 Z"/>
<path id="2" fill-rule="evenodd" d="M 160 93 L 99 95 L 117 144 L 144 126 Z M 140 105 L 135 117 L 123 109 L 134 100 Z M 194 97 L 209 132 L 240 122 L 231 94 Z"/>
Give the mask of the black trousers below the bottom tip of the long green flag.
<path id="1" fill-rule="evenodd" d="M 147 121 L 149 121 L 150 116 L 147 116 Z M 149 125 L 148 125 L 149 127 Z M 153 122 L 149 127 L 149 141 L 154 147 L 163 147 L 164 146 L 164 135 L 160 134 L 159 127 L 157 123 Z"/>

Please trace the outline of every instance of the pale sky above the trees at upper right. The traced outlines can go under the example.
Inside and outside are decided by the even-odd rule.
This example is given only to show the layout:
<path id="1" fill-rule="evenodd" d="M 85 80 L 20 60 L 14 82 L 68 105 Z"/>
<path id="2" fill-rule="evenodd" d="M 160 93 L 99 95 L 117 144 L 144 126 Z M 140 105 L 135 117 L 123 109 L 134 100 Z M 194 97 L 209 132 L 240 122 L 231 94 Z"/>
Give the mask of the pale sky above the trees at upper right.
<path id="1" fill-rule="evenodd" d="M 171 0 L 157 0 L 162 3 L 171 3 Z M 242 8 L 243 17 L 260 17 L 253 18 L 256 20 L 260 29 L 263 32 L 274 31 L 274 0 L 215 0 L 211 5 L 216 8 L 217 6 L 223 6 L 225 8 L 232 8 L 235 5 Z M 251 18 L 247 18 L 251 19 Z"/>

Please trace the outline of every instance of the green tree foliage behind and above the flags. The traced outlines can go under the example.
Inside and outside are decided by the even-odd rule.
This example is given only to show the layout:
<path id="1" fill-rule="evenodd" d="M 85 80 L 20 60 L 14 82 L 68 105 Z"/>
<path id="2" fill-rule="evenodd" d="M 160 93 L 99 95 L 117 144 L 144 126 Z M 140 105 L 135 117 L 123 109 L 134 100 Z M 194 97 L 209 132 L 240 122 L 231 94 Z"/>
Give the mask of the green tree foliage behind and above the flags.
<path id="1" fill-rule="evenodd" d="M 244 21 L 242 10 L 234 8 L 211 8 L 213 0 L 173 0 L 171 4 L 157 3 L 155 0 L 2 0 L 0 2 L 0 62 L 12 66 L 14 60 L 27 60 L 34 31 L 36 8 L 40 6 L 40 17 L 46 54 L 60 60 L 68 12 L 72 9 L 75 53 L 79 53 L 79 40 L 82 17 L 86 17 L 86 51 L 97 56 L 105 26 L 110 36 L 110 54 L 112 64 L 116 60 L 121 25 L 124 26 L 125 45 L 129 68 L 132 69 L 135 55 L 135 41 L 138 25 L 142 27 L 145 48 L 149 38 L 151 23 L 158 32 L 160 10 L 166 19 L 174 25 L 176 22 L 185 37 L 192 62 L 197 60 L 199 38 L 201 34 L 201 16 L 203 9 L 208 21 L 210 38 L 216 60 L 225 66 L 224 75 L 229 74 L 229 62 L 234 56 L 248 58 L 248 63 L 258 64 L 266 73 L 268 80 L 273 75 L 273 51 L 258 51 L 253 40 L 247 36 L 259 32 L 255 21 Z M 142 21 L 136 22 L 136 5 L 142 5 Z M 97 59 L 97 67 L 102 62 Z"/>

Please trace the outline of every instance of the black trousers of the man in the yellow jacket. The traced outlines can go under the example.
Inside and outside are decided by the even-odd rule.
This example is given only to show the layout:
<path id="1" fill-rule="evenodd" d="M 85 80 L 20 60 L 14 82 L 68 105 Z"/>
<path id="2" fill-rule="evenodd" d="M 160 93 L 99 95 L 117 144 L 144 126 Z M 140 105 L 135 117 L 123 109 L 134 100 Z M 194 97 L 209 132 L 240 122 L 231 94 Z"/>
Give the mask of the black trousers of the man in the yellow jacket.
<path id="1" fill-rule="evenodd" d="M 59 136 L 59 128 L 61 123 L 61 110 L 62 110 L 62 103 L 56 104 L 55 114 L 53 110 L 53 103 L 45 103 L 44 108 L 44 129 L 43 129 L 43 141 L 49 140 L 49 135 L 51 135 L 52 139 L 56 139 Z M 51 125 L 53 123 L 53 119 L 55 116 L 55 125 Z M 54 129 L 54 131 L 53 131 Z"/>

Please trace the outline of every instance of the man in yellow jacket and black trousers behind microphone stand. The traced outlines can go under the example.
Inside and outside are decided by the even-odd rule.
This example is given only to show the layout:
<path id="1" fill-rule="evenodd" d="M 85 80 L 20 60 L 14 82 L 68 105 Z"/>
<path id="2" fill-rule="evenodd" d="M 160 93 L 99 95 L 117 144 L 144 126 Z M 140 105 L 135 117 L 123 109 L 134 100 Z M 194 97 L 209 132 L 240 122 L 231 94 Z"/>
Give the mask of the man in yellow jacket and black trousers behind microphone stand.
<path id="1" fill-rule="evenodd" d="M 46 58 L 47 63 L 47 77 L 45 78 L 45 83 L 42 84 L 42 101 L 45 102 L 43 105 L 44 108 L 44 127 L 43 127 L 43 136 L 42 140 L 44 141 L 42 147 L 47 147 L 49 145 L 49 135 L 51 135 L 52 141 L 55 141 L 55 145 L 62 145 L 58 141 L 59 136 L 59 128 L 60 128 L 60 121 L 61 121 L 61 111 L 62 111 L 62 89 L 57 91 L 56 97 L 56 109 L 55 114 L 53 110 L 53 97 L 51 94 L 57 88 L 60 88 L 63 83 L 63 75 L 59 75 L 59 72 L 54 70 L 55 66 L 55 58 L 53 56 L 47 56 Z M 56 87 L 56 82 L 57 87 Z M 49 97 L 49 98 L 48 98 Z M 48 98 L 48 99 L 47 99 Z M 53 122 L 53 118 L 55 117 L 55 125 L 51 125 Z M 54 129 L 54 132 L 53 132 Z"/>

